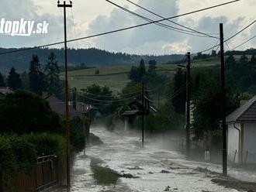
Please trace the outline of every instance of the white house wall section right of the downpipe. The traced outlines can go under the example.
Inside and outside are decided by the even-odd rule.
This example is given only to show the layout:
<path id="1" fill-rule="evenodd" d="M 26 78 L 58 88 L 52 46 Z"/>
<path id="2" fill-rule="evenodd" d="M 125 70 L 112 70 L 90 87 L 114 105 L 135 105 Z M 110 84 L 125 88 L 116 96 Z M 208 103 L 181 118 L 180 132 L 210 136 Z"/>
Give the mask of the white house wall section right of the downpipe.
<path id="1" fill-rule="evenodd" d="M 256 163 L 256 124 L 244 124 L 244 163 Z"/>

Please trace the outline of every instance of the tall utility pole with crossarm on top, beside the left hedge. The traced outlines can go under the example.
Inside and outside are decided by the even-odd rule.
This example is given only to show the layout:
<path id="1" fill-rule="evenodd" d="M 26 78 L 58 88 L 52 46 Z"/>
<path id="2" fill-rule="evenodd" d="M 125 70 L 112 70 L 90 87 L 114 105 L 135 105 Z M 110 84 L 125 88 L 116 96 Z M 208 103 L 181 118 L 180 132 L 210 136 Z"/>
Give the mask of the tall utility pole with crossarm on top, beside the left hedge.
<path id="1" fill-rule="evenodd" d="M 66 155 L 67 155 L 67 188 L 71 187 L 71 157 L 70 157 L 70 125 L 69 125 L 69 111 L 68 111 L 68 78 L 67 78 L 67 24 L 66 24 L 66 8 L 72 7 L 72 2 L 66 4 L 64 1 L 63 4 L 60 4 L 60 1 L 57 1 L 57 7 L 64 9 L 64 49 L 65 49 L 65 126 L 66 126 Z"/>

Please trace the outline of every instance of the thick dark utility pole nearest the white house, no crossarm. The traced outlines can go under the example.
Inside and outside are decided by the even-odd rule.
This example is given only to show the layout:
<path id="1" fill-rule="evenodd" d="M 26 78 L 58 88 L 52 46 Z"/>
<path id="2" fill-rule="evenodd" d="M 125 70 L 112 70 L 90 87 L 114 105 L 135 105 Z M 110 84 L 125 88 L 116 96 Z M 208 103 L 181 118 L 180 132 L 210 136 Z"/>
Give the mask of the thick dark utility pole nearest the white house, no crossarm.
<path id="1" fill-rule="evenodd" d="M 220 23 L 220 69 L 221 69 L 221 116 L 223 129 L 223 176 L 227 176 L 227 126 L 226 126 L 226 98 L 225 98 L 225 63 L 223 23 Z"/>

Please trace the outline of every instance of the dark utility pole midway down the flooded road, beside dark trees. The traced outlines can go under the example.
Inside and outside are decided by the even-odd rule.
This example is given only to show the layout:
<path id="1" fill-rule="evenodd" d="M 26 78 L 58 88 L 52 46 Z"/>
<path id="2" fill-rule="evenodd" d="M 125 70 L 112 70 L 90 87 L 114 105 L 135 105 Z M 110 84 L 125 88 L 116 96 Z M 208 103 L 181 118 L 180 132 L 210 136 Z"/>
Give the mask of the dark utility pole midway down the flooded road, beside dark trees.
<path id="1" fill-rule="evenodd" d="M 190 152 L 190 66 L 191 66 L 191 56 L 190 52 L 187 53 L 187 82 L 186 82 L 186 151 L 189 155 Z"/>

